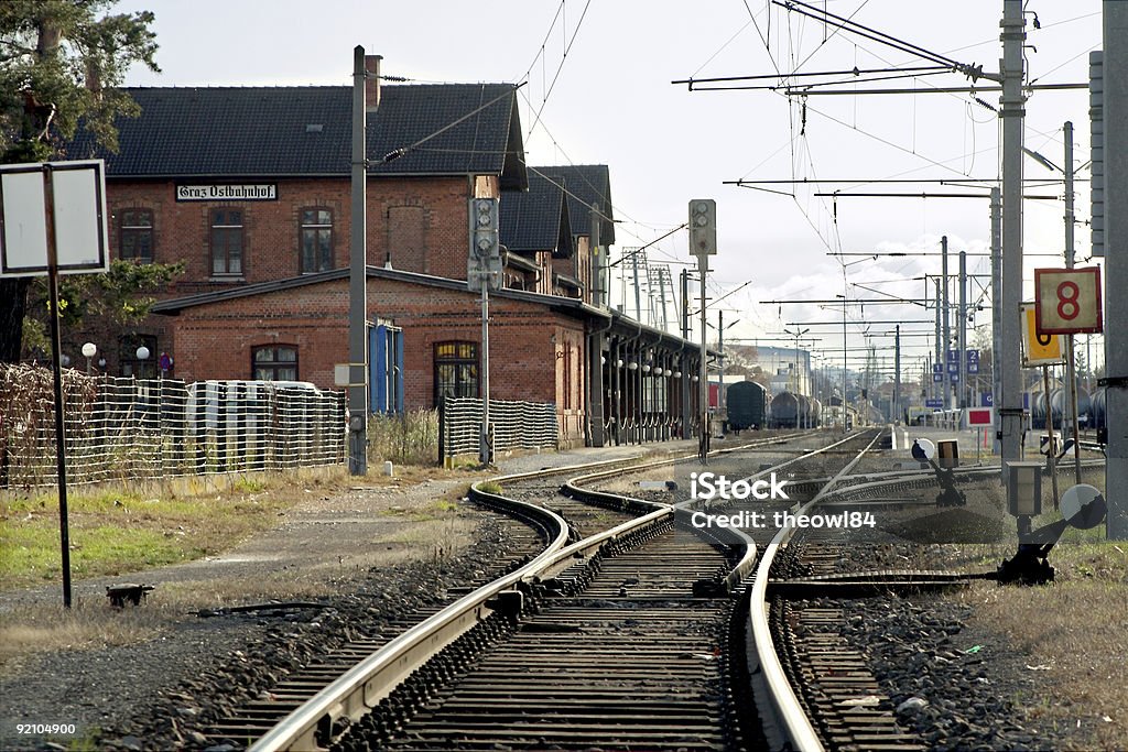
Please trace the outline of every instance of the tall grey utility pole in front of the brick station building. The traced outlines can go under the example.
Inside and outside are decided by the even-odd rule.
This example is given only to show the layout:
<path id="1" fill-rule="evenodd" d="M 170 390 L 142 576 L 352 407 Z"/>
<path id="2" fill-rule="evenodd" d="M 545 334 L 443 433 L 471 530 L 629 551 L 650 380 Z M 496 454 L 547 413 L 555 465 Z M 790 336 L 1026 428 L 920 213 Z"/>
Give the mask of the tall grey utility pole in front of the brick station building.
<path id="1" fill-rule="evenodd" d="M 377 59 L 379 61 L 379 59 Z M 376 76 L 380 74 L 379 62 Z M 349 250 L 349 475 L 368 472 L 368 165 L 364 153 L 364 47 L 353 48 L 352 207 Z"/>

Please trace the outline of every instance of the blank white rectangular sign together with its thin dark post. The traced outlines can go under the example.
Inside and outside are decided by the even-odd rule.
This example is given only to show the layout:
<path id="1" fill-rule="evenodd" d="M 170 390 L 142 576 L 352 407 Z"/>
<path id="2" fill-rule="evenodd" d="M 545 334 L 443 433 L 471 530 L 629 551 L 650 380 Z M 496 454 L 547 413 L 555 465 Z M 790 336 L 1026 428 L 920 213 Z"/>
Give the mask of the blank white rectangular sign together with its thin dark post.
<path id="1" fill-rule="evenodd" d="M 55 470 L 63 607 L 71 607 L 70 524 L 67 517 L 67 435 L 59 331 L 59 275 L 104 273 L 107 212 L 99 160 L 0 167 L 0 276 L 47 277 L 51 366 L 54 374 Z"/>

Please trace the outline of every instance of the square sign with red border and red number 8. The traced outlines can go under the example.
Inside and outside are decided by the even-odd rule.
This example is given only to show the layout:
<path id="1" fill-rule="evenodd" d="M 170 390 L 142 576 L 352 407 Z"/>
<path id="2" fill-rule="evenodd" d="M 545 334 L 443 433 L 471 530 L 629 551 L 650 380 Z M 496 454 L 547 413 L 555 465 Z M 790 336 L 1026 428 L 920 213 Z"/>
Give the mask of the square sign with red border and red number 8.
<path id="1" fill-rule="evenodd" d="M 1039 334 L 1101 331 L 1101 269 L 1034 269 Z"/>

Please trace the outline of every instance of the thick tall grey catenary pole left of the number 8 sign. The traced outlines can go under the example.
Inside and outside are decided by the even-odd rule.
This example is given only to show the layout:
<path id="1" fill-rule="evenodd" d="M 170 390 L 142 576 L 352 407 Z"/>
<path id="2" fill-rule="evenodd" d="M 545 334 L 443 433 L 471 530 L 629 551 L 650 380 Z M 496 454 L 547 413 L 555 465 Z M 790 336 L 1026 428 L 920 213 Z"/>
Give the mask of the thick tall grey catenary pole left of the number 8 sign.
<path id="1" fill-rule="evenodd" d="M 1105 11 L 1109 5 L 1105 3 Z M 1006 484 L 1007 465 L 1021 459 L 1022 452 L 1022 370 L 1019 354 L 1019 309 L 1022 304 L 1022 126 L 1025 97 L 1022 94 L 1023 45 L 1026 20 L 1022 0 L 1003 0 L 1003 94 L 999 117 L 1003 118 L 1003 253 L 1001 306 L 1002 352 L 999 353 L 1002 406 L 998 408 L 1003 439 L 1002 478 Z M 1110 287 L 1112 289 L 1112 287 Z"/>

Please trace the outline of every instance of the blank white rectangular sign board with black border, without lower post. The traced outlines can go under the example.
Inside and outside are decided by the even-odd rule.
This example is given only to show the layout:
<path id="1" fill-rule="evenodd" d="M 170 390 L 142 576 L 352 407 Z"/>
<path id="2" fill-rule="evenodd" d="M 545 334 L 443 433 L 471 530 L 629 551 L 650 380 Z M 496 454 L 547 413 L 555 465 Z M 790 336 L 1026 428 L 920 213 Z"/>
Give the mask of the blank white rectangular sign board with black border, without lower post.
<path id="1" fill-rule="evenodd" d="M 60 274 L 105 272 L 106 186 L 102 160 L 49 162 L 52 227 Z M 0 275 L 43 275 L 47 271 L 43 165 L 0 168 Z"/>

